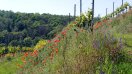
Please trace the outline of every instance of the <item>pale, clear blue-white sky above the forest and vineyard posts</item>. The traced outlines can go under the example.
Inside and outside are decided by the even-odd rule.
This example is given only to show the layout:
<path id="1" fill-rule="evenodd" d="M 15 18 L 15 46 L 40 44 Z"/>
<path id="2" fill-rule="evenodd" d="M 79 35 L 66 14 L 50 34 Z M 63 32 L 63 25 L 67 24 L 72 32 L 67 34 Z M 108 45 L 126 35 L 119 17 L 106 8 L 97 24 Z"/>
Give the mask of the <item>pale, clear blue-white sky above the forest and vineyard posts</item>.
<path id="1" fill-rule="evenodd" d="M 122 0 L 95 0 L 95 16 L 105 16 L 122 4 Z M 132 5 L 132 0 L 124 0 Z M 80 0 L 0 0 L 0 10 L 26 13 L 50 13 L 57 15 L 74 15 L 74 4 L 77 5 L 77 15 L 80 14 Z M 92 0 L 82 0 L 82 11 L 85 13 L 92 6 Z"/>

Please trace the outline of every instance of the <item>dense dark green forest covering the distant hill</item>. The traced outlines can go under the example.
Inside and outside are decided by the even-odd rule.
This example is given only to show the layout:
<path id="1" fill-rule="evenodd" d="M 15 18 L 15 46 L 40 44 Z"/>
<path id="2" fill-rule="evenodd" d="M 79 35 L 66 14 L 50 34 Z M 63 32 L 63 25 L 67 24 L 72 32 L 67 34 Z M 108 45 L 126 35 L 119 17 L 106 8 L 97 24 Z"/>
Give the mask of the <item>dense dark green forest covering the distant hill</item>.
<path id="1" fill-rule="evenodd" d="M 0 47 L 34 46 L 40 39 L 53 38 L 68 22 L 69 16 L 64 15 L 0 10 Z"/>

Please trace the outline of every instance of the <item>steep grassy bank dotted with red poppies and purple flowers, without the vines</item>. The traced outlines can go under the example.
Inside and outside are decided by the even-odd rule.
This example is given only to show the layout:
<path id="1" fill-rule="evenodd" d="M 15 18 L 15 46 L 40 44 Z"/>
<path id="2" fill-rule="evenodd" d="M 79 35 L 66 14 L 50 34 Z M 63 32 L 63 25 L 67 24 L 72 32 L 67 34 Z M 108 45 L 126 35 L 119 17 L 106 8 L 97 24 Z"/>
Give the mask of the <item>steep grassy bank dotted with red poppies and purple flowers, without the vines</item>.
<path id="1" fill-rule="evenodd" d="M 91 34 L 72 22 L 41 49 L 25 53 L 21 74 L 132 74 L 132 11 Z"/>

